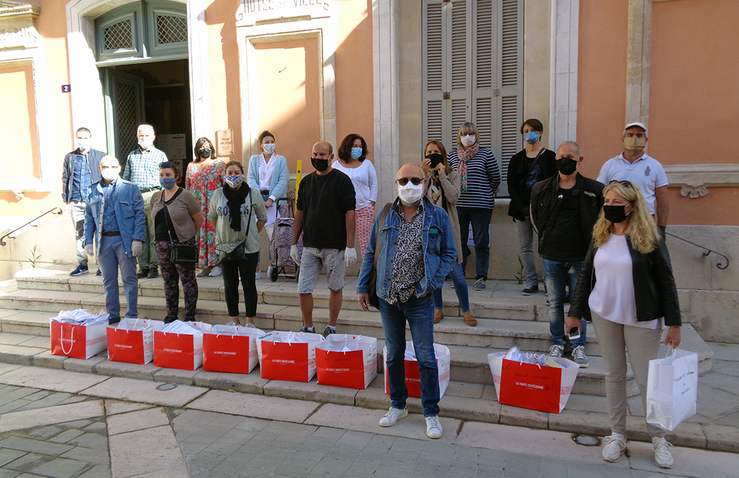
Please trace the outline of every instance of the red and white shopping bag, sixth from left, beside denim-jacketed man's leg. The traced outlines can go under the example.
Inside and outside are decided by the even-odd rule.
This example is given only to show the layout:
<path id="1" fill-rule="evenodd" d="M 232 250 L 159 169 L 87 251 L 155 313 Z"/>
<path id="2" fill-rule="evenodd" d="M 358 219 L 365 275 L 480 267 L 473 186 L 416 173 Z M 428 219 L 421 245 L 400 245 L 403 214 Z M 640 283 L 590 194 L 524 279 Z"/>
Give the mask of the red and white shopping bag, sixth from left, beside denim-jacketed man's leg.
<path id="1" fill-rule="evenodd" d="M 316 346 L 316 374 L 319 385 L 366 389 L 377 377 L 377 339 L 329 335 Z"/>

